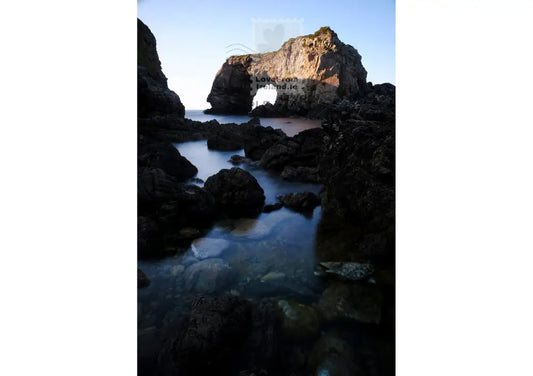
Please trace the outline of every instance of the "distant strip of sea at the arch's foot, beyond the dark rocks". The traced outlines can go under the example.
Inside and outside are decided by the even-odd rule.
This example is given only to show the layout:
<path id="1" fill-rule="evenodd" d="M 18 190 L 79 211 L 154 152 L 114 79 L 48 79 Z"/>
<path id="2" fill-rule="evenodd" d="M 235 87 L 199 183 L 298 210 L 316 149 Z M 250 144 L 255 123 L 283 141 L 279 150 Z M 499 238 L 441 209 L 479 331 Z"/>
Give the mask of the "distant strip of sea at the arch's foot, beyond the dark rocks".
<path id="1" fill-rule="evenodd" d="M 196 121 L 217 120 L 219 123 L 246 123 L 251 119 L 247 115 L 209 115 L 204 114 L 202 110 L 186 110 L 185 117 Z M 294 136 L 301 131 L 312 128 L 319 128 L 321 121 L 306 118 L 260 118 L 261 125 L 281 129 L 287 136 Z"/>

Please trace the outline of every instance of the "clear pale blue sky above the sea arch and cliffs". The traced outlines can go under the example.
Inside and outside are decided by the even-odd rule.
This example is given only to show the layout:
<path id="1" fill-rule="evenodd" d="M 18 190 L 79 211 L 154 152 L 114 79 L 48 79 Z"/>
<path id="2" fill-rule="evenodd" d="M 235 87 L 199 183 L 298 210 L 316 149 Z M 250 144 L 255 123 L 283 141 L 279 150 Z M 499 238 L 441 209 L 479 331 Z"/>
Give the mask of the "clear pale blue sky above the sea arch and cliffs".
<path id="1" fill-rule="evenodd" d="M 288 39 L 296 31 L 311 34 L 322 26 L 331 27 L 341 41 L 359 51 L 368 81 L 395 83 L 394 0 L 138 0 L 137 4 L 139 18 L 157 39 L 168 85 L 186 109 L 210 107 L 206 98 L 211 84 L 230 55 L 268 49 L 280 35 Z M 282 31 L 275 25 L 281 25 Z"/>

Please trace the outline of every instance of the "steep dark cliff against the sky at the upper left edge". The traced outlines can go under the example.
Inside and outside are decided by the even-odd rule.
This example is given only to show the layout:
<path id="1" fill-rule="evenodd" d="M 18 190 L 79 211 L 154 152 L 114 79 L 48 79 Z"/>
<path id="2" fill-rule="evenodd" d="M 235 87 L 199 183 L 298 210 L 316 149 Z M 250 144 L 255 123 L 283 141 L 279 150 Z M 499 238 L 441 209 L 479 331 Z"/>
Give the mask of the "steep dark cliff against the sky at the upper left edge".
<path id="1" fill-rule="evenodd" d="M 154 115 L 185 115 L 176 93 L 168 88 L 161 71 L 156 40 L 148 26 L 137 19 L 137 111 L 146 118 Z"/>

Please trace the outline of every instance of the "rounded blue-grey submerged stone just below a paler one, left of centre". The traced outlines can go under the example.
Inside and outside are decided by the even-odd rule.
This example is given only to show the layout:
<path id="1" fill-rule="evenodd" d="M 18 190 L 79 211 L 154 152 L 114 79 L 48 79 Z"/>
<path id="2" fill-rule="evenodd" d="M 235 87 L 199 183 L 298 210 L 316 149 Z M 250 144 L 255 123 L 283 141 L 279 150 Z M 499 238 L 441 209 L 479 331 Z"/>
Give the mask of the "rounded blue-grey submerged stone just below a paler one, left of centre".
<path id="1" fill-rule="evenodd" d="M 219 258 L 209 258 L 192 264 L 185 270 L 185 288 L 199 293 L 214 293 L 228 287 L 233 280 L 229 264 Z"/>

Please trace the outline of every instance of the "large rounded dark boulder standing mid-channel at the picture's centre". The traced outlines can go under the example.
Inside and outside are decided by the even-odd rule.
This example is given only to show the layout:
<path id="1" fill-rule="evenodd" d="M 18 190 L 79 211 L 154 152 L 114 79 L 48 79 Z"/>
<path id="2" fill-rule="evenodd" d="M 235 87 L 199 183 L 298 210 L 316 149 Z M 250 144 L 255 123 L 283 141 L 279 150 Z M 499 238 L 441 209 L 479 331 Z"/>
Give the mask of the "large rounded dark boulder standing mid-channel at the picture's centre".
<path id="1" fill-rule="evenodd" d="M 264 205 L 265 194 L 249 172 L 234 167 L 209 177 L 204 188 L 215 198 L 217 207 L 228 216 L 254 217 Z"/>

